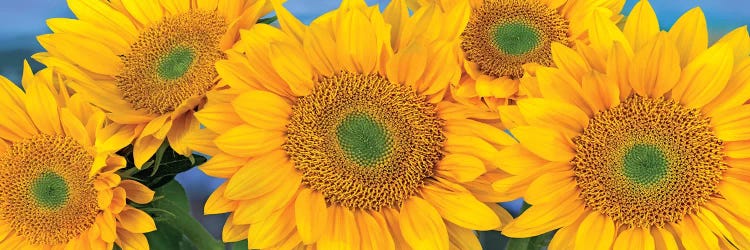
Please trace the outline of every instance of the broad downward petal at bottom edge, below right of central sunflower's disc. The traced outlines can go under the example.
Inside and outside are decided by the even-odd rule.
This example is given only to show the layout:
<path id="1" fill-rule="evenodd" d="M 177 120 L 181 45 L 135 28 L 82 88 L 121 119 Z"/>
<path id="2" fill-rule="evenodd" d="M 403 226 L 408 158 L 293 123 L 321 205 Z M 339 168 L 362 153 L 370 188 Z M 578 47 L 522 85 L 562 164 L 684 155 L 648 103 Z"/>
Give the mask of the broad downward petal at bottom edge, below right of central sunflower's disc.
<path id="1" fill-rule="evenodd" d="M 404 202 L 398 219 L 404 240 L 414 249 L 448 249 L 448 229 L 438 211 L 412 196 Z"/>

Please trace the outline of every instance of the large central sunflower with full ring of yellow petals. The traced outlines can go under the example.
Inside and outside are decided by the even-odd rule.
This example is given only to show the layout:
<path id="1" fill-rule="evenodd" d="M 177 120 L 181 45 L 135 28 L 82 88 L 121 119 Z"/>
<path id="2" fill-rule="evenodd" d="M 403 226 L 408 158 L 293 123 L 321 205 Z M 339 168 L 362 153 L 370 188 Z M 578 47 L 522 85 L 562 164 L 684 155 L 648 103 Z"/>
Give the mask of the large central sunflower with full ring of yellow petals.
<path id="1" fill-rule="evenodd" d="M 513 139 L 476 120 L 492 113 L 442 100 L 460 65 L 420 27 L 456 13 L 344 1 L 306 27 L 275 9 L 281 30 L 243 31 L 217 64 L 229 88 L 209 93 L 207 130 L 188 139 L 213 156 L 201 170 L 228 179 L 205 207 L 232 212 L 224 241 L 480 249 L 472 230 L 510 219 L 491 183 Z"/>

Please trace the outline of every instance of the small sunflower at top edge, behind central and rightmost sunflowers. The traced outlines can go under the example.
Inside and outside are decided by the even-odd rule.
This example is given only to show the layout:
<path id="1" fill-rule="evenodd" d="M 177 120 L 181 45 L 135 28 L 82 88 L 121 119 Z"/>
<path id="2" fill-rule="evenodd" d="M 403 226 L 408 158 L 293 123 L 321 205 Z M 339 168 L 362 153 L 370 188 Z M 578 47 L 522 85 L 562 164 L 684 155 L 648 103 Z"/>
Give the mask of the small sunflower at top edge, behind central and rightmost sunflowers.
<path id="1" fill-rule="evenodd" d="M 455 38 L 466 74 L 455 82 L 458 101 L 496 109 L 522 98 L 524 76 L 538 66 L 564 63 L 552 54 L 552 44 L 575 47 L 587 44 L 587 30 L 595 9 L 606 8 L 615 23 L 625 0 L 411 0 L 418 9 L 429 2 L 442 8 L 459 8 L 457 18 L 438 20 L 436 25 Z M 465 3 L 469 2 L 470 6 Z"/>

